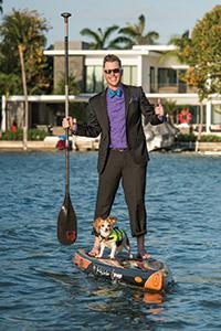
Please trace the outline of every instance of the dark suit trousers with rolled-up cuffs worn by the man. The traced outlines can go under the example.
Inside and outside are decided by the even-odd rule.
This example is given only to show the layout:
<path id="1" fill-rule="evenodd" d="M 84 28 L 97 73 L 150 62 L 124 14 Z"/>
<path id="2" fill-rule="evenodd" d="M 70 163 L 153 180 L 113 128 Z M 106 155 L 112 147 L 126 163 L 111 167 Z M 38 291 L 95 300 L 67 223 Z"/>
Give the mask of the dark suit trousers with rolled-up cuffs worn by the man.
<path id="1" fill-rule="evenodd" d="M 146 234 L 146 166 L 134 162 L 128 150 L 110 149 L 105 169 L 99 174 L 95 218 L 109 216 L 122 180 L 129 211 L 131 235 Z"/>

